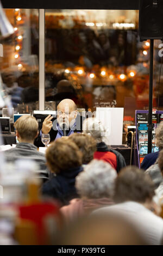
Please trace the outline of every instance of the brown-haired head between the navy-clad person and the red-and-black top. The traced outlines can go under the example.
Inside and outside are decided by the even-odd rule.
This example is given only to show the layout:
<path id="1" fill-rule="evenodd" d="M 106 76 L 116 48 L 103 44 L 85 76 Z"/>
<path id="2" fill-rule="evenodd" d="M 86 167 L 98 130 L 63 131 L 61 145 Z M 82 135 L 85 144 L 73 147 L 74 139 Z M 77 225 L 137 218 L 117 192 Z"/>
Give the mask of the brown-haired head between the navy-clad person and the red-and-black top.
<path id="1" fill-rule="evenodd" d="M 87 164 L 93 160 L 93 154 L 96 151 L 95 139 L 87 134 L 73 133 L 69 139 L 77 144 L 78 148 L 83 154 L 82 163 Z"/>

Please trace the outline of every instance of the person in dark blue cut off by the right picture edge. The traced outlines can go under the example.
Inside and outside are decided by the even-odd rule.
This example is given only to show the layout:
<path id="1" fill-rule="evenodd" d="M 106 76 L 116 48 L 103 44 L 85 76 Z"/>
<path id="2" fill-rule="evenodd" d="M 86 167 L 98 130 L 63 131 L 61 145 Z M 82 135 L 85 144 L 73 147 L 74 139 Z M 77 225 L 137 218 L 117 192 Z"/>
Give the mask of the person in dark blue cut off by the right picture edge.
<path id="1" fill-rule="evenodd" d="M 159 147 L 159 151 L 163 149 L 163 121 L 156 127 L 156 146 Z M 149 153 L 145 156 L 141 163 L 141 169 L 147 170 L 152 164 L 157 163 L 156 160 L 159 156 L 159 151 Z"/>

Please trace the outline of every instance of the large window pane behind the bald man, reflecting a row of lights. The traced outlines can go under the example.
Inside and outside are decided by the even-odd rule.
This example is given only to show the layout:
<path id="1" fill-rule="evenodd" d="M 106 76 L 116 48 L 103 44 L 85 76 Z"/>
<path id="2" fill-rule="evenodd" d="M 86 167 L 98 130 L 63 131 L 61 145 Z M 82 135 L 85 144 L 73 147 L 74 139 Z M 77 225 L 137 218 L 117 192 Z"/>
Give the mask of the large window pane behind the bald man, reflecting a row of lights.
<path id="1" fill-rule="evenodd" d="M 135 109 L 148 109 L 150 44 L 139 40 L 139 11 L 46 10 L 45 20 L 46 107 L 64 97 L 92 112 L 124 107 L 125 133 Z M 155 40 L 153 107 L 162 109 L 159 44 Z"/>

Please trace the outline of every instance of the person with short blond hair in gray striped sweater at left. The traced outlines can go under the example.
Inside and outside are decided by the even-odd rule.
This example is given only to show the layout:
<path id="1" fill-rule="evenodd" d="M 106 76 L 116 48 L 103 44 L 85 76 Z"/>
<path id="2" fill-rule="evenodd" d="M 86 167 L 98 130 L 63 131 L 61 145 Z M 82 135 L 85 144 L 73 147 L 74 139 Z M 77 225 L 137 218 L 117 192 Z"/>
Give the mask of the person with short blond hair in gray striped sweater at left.
<path id="1" fill-rule="evenodd" d="M 15 162 L 16 160 L 33 160 L 39 166 L 39 175 L 43 177 L 49 176 L 46 166 L 46 159 L 43 153 L 37 151 L 34 145 L 34 139 L 38 135 L 39 125 L 31 115 L 22 115 L 14 123 L 18 144 L 15 148 L 4 151 L 7 162 Z"/>

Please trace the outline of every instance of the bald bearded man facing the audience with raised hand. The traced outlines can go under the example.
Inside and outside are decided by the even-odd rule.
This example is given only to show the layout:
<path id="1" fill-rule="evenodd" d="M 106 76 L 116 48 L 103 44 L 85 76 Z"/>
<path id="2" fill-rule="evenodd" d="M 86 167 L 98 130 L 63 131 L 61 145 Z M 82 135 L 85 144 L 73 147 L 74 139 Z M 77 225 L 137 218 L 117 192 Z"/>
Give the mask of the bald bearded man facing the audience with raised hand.
<path id="1" fill-rule="evenodd" d="M 52 123 L 53 117 L 48 115 L 42 124 L 39 136 L 35 139 L 36 147 L 44 147 L 41 142 L 42 133 L 49 133 L 51 141 L 70 136 L 74 132 L 80 132 L 76 129 L 77 106 L 73 100 L 62 100 L 57 106 L 57 122 Z"/>

